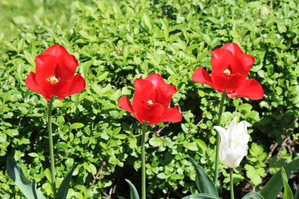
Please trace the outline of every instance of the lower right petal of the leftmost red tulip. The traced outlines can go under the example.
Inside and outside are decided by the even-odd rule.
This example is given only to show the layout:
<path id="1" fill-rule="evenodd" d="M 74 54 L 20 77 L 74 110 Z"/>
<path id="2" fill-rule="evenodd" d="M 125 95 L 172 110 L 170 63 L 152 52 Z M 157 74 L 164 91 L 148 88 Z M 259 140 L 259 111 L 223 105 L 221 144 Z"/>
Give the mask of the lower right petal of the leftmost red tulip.
<path id="1" fill-rule="evenodd" d="M 61 80 L 63 81 L 63 80 Z M 60 82 L 61 82 L 60 81 Z M 78 73 L 77 75 L 75 75 L 72 84 L 69 87 L 69 90 L 67 93 L 64 93 L 63 95 L 57 95 L 58 96 L 58 100 L 62 100 L 63 98 L 67 97 L 67 96 L 71 96 L 71 95 L 75 95 L 77 93 L 80 93 L 82 91 L 84 91 L 86 87 L 86 83 L 84 78 L 81 76 L 80 73 Z"/>

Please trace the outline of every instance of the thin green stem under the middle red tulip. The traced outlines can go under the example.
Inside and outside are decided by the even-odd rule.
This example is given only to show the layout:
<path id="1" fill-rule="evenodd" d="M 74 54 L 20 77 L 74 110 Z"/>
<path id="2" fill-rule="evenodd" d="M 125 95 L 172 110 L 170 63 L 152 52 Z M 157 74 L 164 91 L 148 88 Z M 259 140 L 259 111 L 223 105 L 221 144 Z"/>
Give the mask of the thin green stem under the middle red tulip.
<path id="1" fill-rule="evenodd" d="M 146 152 L 145 152 L 145 139 L 148 122 L 143 124 L 142 137 L 141 137 L 141 168 L 142 168 L 142 199 L 146 199 Z"/>

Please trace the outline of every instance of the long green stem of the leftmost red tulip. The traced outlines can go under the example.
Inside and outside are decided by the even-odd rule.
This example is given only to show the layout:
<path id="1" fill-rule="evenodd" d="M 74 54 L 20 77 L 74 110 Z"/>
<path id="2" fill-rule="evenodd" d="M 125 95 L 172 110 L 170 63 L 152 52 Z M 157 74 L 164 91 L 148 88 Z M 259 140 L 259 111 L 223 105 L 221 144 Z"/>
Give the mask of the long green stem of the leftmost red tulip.
<path id="1" fill-rule="evenodd" d="M 54 164 L 54 149 L 53 149 L 53 137 L 52 137 L 52 121 L 51 121 L 51 110 L 54 96 L 49 102 L 48 108 L 48 131 L 49 131 L 49 150 L 50 150 L 50 163 L 51 163 L 51 179 L 52 179 L 52 191 L 54 199 L 56 199 L 56 184 L 55 184 L 55 164 Z"/>

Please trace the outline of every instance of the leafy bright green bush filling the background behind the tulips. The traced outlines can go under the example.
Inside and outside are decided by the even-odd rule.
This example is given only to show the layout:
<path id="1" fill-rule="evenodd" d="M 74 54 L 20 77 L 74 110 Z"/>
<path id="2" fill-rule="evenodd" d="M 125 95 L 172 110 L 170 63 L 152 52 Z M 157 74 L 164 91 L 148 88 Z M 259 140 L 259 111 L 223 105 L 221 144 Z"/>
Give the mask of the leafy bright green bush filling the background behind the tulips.
<path id="1" fill-rule="evenodd" d="M 222 126 L 238 116 L 247 121 L 252 138 L 249 155 L 235 169 L 235 197 L 261 190 L 281 166 L 299 157 L 298 0 L 88 3 L 71 4 L 74 14 L 66 10 L 72 15 L 66 17 L 67 25 L 34 16 L 34 23 L 23 26 L 10 41 L 0 37 L 1 198 L 24 198 L 5 173 L 7 157 L 21 164 L 44 195 L 51 194 L 47 101 L 29 91 L 24 80 L 35 70 L 35 57 L 52 44 L 64 45 L 77 57 L 77 73 L 87 82 L 84 92 L 54 101 L 57 184 L 80 163 L 70 199 L 128 199 L 125 178 L 140 190 L 141 125 L 117 104 L 123 95 L 133 97 L 136 78 L 150 73 L 161 74 L 177 87 L 171 106 L 182 111 L 183 120 L 148 128 L 149 199 L 197 193 L 186 154 L 213 176 L 213 125 L 221 95 L 192 82 L 191 76 L 199 66 L 210 71 L 211 50 L 227 42 L 238 43 L 255 57 L 249 78 L 261 82 L 265 91 L 258 101 L 226 98 Z M 227 171 L 220 165 L 223 198 L 229 196 Z M 299 184 L 295 174 L 289 181 L 294 192 Z"/>

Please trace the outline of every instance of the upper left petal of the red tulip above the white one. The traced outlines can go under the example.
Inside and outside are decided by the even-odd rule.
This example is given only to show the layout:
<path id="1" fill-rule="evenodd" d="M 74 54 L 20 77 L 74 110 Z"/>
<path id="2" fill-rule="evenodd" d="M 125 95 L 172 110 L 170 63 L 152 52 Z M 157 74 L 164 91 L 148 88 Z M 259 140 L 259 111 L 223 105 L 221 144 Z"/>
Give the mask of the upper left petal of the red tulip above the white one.
<path id="1" fill-rule="evenodd" d="M 223 72 L 226 69 L 229 69 L 229 65 L 232 62 L 232 59 L 233 59 L 233 53 L 229 50 L 226 49 L 213 50 L 212 59 L 211 59 L 212 72 Z"/>

